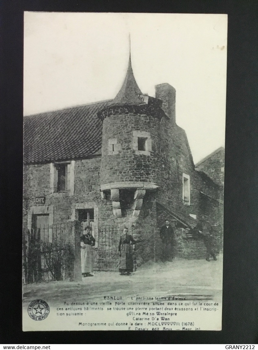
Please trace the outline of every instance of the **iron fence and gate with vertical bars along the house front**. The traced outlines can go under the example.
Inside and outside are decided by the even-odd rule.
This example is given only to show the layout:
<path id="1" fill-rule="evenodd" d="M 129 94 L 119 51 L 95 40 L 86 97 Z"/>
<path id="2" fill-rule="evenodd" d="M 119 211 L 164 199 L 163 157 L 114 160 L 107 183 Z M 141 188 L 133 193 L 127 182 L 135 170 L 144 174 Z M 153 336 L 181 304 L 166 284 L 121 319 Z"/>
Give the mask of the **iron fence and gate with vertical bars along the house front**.
<path id="1" fill-rule="evenodd" d="M 119 241 L 123 229 L 118 226 L 96 227 L 91 223 L 95 238 L 94 270 L 118 271 Z M 80 236 L 83 235 L 85 223 L 81 224 Z M 129 228 L 129 235 L 133 235 Z M 74 260 L 72 232 L 66 223 L 41 226 L 31 229 L 23 236 L 23 271 L 24 283 L 63 280 Z M 78 242 L 79 244 L 80 242 Z"/>

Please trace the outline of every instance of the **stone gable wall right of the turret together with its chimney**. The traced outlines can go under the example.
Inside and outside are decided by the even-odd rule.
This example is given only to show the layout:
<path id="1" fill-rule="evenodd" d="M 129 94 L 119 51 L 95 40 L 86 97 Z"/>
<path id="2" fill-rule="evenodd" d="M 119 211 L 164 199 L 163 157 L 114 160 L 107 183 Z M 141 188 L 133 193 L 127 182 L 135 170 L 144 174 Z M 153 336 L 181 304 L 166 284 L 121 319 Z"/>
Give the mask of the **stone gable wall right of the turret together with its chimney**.
<path id="1" fill-rule="evenodd" d="M 208 176 L 195 170 L 186 133 L 175 124 L 175 89 L 169 84 L 157 85 L 156 98 L 163 100 L 162 109 L 169 117 L 162 118 L 159 125 L 162 180 L 157 192 L 157 201 L 172 212 L 177 209 L 185 216 L 193 214 L 198 218 L 202 214 L 203 206 L 200 191 L 219 200 L 220 187 Z M 182 198 L 183 173 L 189 175 L 190 179 L 190 205 L 185 204 Z M 209 203 L 206 211 L 213 219 L 214 203 Z"/>

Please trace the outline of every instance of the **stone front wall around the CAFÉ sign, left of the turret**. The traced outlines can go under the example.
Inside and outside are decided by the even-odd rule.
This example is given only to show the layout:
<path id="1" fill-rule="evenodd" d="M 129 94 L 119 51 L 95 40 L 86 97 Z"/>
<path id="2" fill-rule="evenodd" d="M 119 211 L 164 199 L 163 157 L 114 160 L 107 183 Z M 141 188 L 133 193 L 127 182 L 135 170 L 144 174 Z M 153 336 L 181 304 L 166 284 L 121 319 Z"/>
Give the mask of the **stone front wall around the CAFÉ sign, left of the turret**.
<path id="1" fill-rule="evenodd" d="M 28 213 L 44 214 L 44 208 L 53 206 L 53 225 L 78 220 L 74 211 L 94 209 L 94 222 L 98 225 L 118 224 L 113 217 L 112 202 L 102 199 L 100 193 L 101 158 L 76 160 L 74 167 L 74 193 L 51 193 L 50 164 L 24 166 L 24 228 L 27 229 Z M 45 204 L 35 203 L 38 196 L 45 197 Z M 37 210 L 33 208 L 38 208 Z M 29 228 L 30 229 L 30 228 Z"/>

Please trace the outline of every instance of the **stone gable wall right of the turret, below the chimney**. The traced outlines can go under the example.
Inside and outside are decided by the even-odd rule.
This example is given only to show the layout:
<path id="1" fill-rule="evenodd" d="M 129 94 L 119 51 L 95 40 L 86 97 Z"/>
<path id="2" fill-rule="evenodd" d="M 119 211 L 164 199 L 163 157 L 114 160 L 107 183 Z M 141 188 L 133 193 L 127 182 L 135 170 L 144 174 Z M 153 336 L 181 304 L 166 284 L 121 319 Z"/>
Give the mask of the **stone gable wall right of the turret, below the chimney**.
<path id="1" fill-rule="evenodd" d="M 198 217 L 201 214 L 200 191 L 214 199 L 219 199 L 219 188 L 207 176 L 201 176 L 194 169 L 192 155 L 187 147 L 188 141 L 185 132 L 180 127 L 172 126 L 169 121 L 162 120 L 160 140 L 162 181 L 157 193 L 157 200 L 171 211 L 177 208 L 186 216 L 193 214 Z M 185 204 L 182 198 L 183 174 L 189 176 L 190 204 Z"/>

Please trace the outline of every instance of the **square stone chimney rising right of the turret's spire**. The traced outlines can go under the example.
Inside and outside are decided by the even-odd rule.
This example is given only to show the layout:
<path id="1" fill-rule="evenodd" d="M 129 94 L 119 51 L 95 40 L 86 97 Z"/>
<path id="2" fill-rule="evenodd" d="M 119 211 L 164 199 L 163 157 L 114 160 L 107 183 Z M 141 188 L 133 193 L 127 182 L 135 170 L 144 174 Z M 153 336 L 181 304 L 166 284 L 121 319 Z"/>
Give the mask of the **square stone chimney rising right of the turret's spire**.
<path id="1" fill-rule="evenodd" d="M 175 124 L 175 89 L 173 86 L 164 83 L 155 86 L 156 98 L 162 100 L 162 109 Z"/>

